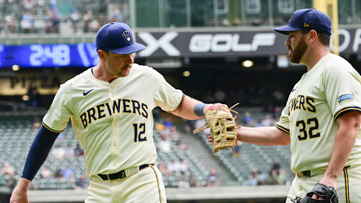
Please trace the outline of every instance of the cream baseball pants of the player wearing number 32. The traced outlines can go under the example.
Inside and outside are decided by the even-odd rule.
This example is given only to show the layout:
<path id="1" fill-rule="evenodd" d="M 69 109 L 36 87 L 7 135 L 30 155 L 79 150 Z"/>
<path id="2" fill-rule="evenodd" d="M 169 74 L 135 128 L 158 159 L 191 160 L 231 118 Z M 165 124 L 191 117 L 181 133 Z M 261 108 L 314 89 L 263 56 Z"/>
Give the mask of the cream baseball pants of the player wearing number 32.
<path id="1" fill-rule="evenodd" d="M 288 192 L 286 203 L 294 203 L 296 197 L 303 198 L 323 177 L 323 172 L 311 170 L 315 175 L 296 177 L 292 181 Z M 318 173 L 318 174 L 316 174 Z M 351 165 L 345 167 L 337 178 L 336 192 L 338 202 L 342 203 L 360 203 L 361 202 L 361 165 Z"/>

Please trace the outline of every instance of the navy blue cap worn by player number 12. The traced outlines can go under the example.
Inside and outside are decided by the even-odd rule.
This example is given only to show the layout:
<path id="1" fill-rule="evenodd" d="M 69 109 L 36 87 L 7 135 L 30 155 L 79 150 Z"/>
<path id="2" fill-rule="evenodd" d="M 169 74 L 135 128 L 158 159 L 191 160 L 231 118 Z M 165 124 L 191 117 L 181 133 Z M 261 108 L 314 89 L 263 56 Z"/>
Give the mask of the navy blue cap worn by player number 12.
<path id="1" fill-rule="evenodd" d="M 97 49 L 109 50 L 114 54 L 130 54 L 145 49 L 134 42 L 133 33 L 125 23 L 108 23 L 102 26 L 95 38 Z"/>

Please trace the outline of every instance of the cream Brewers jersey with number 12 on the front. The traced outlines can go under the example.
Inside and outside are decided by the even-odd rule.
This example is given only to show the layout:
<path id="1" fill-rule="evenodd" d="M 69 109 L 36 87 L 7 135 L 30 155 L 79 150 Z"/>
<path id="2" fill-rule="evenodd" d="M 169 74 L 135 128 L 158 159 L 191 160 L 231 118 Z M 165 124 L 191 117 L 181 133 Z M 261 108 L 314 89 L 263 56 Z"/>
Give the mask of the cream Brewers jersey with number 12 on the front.
<path id="1" fill-rule="evenodd" d="M 62 132 L 69 118 L 84 148 L 87 176 L 156 163 L 152 109 L 175 111 L 184 94 L 152 68 L 133 64 L 111 83 L 91 69 L 60 86 L 43 125 Z"/>

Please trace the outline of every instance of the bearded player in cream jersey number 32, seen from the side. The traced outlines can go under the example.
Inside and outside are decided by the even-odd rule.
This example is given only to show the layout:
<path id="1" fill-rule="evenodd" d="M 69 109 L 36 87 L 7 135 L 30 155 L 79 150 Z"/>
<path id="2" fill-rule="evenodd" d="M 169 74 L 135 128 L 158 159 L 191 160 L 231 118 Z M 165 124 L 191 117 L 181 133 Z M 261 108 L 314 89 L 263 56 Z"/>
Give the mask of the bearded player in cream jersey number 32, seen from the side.
<path id="1" fill-rule="evenodd" d="M 332 187 L 339 202 L 359 203 L 361 77 L 346 60 L 330 53 L 331 20 L 324 13 L 297 10 L 287 26 L 274 30 L 288 35 L 290 61 L 305 64 L 307 72 L 292 88 L 277 126 L 241 127 L 238 140 L 290 143 L 291 170 L 296 175 L 287 203 L 336 202 Z"/>

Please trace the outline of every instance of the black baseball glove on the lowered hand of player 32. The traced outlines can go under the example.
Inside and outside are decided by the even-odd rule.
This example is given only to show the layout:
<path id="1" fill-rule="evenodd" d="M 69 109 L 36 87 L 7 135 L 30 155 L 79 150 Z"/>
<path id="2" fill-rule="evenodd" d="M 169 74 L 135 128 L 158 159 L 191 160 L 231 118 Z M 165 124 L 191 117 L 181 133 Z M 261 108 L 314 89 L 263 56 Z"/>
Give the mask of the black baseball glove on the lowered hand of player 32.
<path id="1" fill-rule="evenodd" d="M 313 194 L 323 197 L 324 199 L 314 199 Z M 324 184 L 317 183 L 316 186 L 306 194 L 306 196 L 297 201 L 297 203 L 338 203 L 338 196 L 333 187 L 327 187 Z"/>

